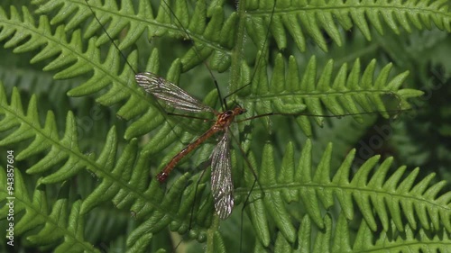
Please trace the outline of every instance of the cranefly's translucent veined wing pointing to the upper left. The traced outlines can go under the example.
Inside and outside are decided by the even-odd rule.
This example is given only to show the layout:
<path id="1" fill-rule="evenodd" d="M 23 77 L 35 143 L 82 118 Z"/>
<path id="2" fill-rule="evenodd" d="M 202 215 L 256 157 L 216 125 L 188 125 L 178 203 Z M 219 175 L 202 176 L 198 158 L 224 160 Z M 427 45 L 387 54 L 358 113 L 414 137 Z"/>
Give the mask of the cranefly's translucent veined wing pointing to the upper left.
<path id="1" fill-rule="evenodd" d="M 136 74 L 134 78 L 138 85 L 142 86 L 146 92 L 156 96 L 164 101 L 164 103 L 176 109 L 190 113 L 215 112 L 211 107 L 202 104 L 198 99 L 192 97 L 180 89 L 179 86 L 170 83 L 170 81 L 163 77 L 145 72 Z"/>

